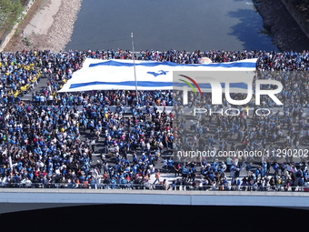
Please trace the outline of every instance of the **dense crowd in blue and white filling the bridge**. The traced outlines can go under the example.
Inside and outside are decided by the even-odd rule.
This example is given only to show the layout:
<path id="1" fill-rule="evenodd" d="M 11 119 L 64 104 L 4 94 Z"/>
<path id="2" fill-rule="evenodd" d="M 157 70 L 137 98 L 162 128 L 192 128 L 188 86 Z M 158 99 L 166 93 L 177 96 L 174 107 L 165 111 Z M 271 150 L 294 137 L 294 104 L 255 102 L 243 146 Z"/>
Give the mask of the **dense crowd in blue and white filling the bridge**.
<path id="1" fill-rule="evenodd" d="M 268 117 L 254 116 L 256 126 L 249 123 L 249 116 L 198 116 L 190 122 L 192 136 L 185 129 L 185 121 L 180 111 L 159 111 L 157 106 L 173 106 L 177 93 L 173 91 L 139 91 L 138 102 L 135 91 L 92 91 L 86 93 L 58 93 L 57 91 L 70 79 L 73 73 L 83 66 L 86 57 L 99 59 L 132 59 L 130 51 L 111 49 L 107 51 L 69 51 L 53 53 L 50 51 L 23 51 L 0 54 L 1 70 L 1 131 L 0 131 L 0 176 L 1 185 L 24 183 L 52 183 L 94 187 L 97 183 L 119 184 L 122 187 L 133 184 L 147 184 L 149 177 L 156 172 L 155 165 L 166 150 L 179 151 L 180 148 L 234 150 L 243 146 L 247 150 L 271 151 L 265 160 L 274 157 L 276 146 L 266 147 L 267 142 L 284 140 L 281 148 L 296 147 L 309 138 L 309 121 L 303 117 L 308 104 L 308 83 L 305 71 L 309 68 L 309 52 L 304 53 L 266 53 L 262 51 L 225 52 L 218 51 L 140 51 L 136 59 L 179 64 L 198 64 L 199 58 L 208 57 L 212 62 L 233 62 L 246 58 L 258 58 L 257 69 L 260 78 L 280 80 L 284 85 L 280 99 L 284 101 L 284 116 L 275 114 Z M 270 71 L 269 73 L 264 73 Z M 294 71 L 304 71 L 297 72 Z M 292 77 L 291 77 L 292 76 Z M 40 91 L 35 89 L 40 79 L 47 78 L 47 85 Z M 267 87 L 267 86 L 265 86 Z M 33 100 L 22 101 L 30 93 Z M 174 94 L 174 95 L 173 95 Z M 243 96 L 234 96 L 243 97 Z M 269 99 L 263 99 L 265 106 L 274 106 Z M 211 96 L 192 95 L 192 102 L 207 107 Z M 249 103 L 249 106 L 252 102 Z M 110 106 L 116 106 L 115 112 Z M 132 106 L 132 116 L 125 117 L 123 106 Z M 142 111 L 145 106 L 145 111 Z M 212 120 L 215 120 L 212 124 Z M 174 127 L 173 127 L 174 121 Z M 196 122 L 200 121 L 198 124 Z M 298 127 L 294 128 L 294 122 Z M 175 126 L 176 125 L 176 126 Z M 5 133 L 5 127 L 7 133 Z M 175 128 L 175 129 L 174 129 Z M 214 129 L 214 131 L 213 131 Z M 288 130 L 289 134 L 285 131 Z M 81 133 L 82 132 L 82 133 Z M 224 135 L 237 135 L 232 145 L 228 145 Z M 190 137 L 190 138 L 189 138 Z M 206 138 L 206 139 L 205 139 Z M 9 152 L 6 141 L 9 143 Z M 97 143 L 105 143 L 105 155 L 113 154 L 115 164 L 108 164 L 103 154 L 101 161 L 92 163 Z M 174 142 L 174 143 L 173 143 Z M 269 142 L 268 142 L 269 143 Z M 129 158 L 127 154 L 133 154 Z M 11 160 L 9 158 L 11 156 Z M 245 160 L 250 162 L 250 160 Z M 276 161 L 276 160 L 273 160 Z M 197 172 L 197 163 L 184 165 L 184 162 L 165 160 L 168 169 L 178 170 L 184 175 L 181 181 L 186 185 L 197 186 L 195 177 L 203 177 L 201 185 L 232 187 L 239 182 L 237 172 L 243 168 L 208 160 L 201 173 Z M 286 160 L 286 168 L 292 160 Z M 225 177 L 224 166 L 228 174 L 231 168 L 235 172 L 233 183 Z M 268 162 L 267 168 L 271 164 Z M 274 165 L 275 166 L 275 163 Z M 191 168 L 191 169 L 190 169 Z M 302 167 L 302 179 L 306 180 L 306 167 Z M 260 168 L 261 169 L 261 168 Z M 187 170 L 187 173 L 185 173 Z M 261 169 L 262 170 L 262 169 Z M 275 171 L 275 169 L 273 168 Z M 262 171 L 261 171 L 262 172 Z M 299 177 L 293 171 L 284 172 L 293 185 L 298 185 Z M 266 173 L 264 171 L 264 173 Z M 255 173 L 256 175 L 256 173 Z M 156 176 L 159 176 L 156 173 Z M 244 183 L 267 185 L 276 183 L 262 177 L 259 181 L 248 174 Z M 289 176 L 289 177 L 288 177 Z M 189 178 L 190 177 L 190 178 Z M 255 176 L 254 176 L 255 177 Z M 200 178 L 199 178 L 200 179 Z M 158 182 L 162 182 L 158 179 Z M 160 181 L 161 180 L 161 181 Z M 177 187 L 175 181 L 171 187 Z M 299 183 L 298 183 L 299 182 Z M 263 184 L 264 183 L 264 184 Z M 163 181 L 162 183 L 165 186 Z M 249 185 L 248 184 L 248 185 Z M 238 184 L 237 184 L 238 185 Z M 291 184 L 292 186 L 292 184 Z M 166 186 L 166 188 L 168 188 Z"/>

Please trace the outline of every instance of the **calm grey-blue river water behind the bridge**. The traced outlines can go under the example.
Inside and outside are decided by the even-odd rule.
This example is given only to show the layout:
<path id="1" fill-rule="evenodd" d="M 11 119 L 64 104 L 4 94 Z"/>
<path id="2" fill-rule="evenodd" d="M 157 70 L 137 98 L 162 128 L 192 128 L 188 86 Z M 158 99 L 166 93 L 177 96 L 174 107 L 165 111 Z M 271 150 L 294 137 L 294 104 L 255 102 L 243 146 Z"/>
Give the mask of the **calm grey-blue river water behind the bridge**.
<path id="1" fill-rule="evenodd" d="M 251 0 L 83 0 L 65 50 L 278 51 Z"/>

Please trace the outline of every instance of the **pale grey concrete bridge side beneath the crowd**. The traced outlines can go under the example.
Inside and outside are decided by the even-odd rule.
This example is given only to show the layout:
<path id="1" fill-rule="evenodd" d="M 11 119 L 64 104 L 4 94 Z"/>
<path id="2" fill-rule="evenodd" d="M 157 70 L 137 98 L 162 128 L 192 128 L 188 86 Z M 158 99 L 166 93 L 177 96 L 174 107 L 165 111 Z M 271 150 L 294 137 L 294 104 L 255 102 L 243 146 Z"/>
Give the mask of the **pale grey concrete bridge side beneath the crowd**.
<path id="1" fill-rule="evenodd" d="M 305 192 L 219 192 L 103 189 L 0 188 L 1 211 L 94 204 L 153 204 L 184 206 L 309 207 Z M 20 204 L 18 207 L 18 204 Z M 63 205 L 62 205 L 63 204 Z M 6 207 L 4 207 L 6 206 Z"/>

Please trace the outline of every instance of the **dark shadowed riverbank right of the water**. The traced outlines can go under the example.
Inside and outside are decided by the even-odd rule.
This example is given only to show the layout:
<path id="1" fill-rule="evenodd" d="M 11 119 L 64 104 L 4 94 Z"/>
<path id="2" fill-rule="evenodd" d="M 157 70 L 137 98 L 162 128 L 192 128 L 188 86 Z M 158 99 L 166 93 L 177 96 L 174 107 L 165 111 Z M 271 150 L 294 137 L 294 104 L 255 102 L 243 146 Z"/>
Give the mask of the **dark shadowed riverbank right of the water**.
<path id="1" fill-rule="evenodd" d="M 303 52 L 309 49 L 309 39 L 297 25 L 281 0 L 253 0 L 263 18 L 264 27 L 272 34 L 280 51 Z"/>

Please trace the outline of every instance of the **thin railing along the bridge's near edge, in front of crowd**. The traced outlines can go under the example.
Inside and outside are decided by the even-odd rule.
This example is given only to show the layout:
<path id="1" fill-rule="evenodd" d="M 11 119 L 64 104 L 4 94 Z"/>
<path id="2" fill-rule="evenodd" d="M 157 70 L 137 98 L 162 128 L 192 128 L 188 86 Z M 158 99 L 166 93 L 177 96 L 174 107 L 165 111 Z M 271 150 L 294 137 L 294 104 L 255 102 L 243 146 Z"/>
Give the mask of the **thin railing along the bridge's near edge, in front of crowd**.
<path id="1" fill-rule="evenodd" d="M 2 183 L 2 188 L 92 188 L 92 189 L 145 189 L 145 190 L 162 190 L 162 191 L 257 191 L 257 192 L 308 192 L 309 187 L 284 187 L 284 186 L 211 186 L 211 185 L 154 185 L 149 182 L 144 184 L 76 184 L 76 183 Z"/>

